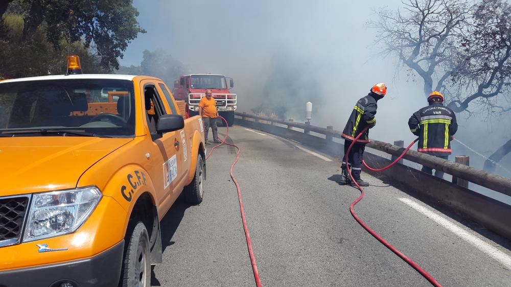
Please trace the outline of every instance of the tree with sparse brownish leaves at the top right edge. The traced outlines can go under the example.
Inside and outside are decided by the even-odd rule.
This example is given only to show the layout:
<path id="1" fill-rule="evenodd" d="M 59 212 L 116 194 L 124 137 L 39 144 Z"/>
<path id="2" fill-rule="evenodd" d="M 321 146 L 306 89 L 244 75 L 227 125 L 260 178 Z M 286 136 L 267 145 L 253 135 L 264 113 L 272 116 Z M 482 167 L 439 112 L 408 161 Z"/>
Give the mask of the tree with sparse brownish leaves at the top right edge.
<path id="1" fill-rule="evenodd" d="M 511 7 L 507 2 L 484 0 L 476 5 L 461 48 L 459 69 L 452 74 L 461 89 L 449 107 L 460 112 L 472 103 L 489 113 L 508 111 L 510 106 L 499 105 L 499 100 L 508 104 L 511 82 Z"/>

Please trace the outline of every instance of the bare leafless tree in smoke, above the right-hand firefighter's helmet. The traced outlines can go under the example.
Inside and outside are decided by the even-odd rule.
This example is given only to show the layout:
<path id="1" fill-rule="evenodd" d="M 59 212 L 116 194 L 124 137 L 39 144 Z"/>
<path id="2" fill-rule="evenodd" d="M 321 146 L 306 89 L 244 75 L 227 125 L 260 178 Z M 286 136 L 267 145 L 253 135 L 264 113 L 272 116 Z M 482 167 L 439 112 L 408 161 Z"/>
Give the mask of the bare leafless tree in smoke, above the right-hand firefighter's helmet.
<path id="1" fill-rule="evenodd" d="M 379 31 L 386 56 L 396 55 L 424 81 L 424 93 L 446 90 L 470 18 L 464 1 L 407 0 L 403 10 L 381 10 L 369 27 Z M 382 45 L 383 44 L 383 45 Z"/>

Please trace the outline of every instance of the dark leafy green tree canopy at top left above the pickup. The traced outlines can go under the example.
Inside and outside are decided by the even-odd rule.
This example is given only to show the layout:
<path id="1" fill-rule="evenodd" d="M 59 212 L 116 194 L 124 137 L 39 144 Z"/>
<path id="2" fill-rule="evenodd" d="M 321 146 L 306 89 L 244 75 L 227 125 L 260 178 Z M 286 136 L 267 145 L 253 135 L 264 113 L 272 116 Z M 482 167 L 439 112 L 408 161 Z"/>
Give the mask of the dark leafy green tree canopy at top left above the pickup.
<path id="1" fill-rule="evenodd" d="M 6 0 L 0 5 L 0 19 L 12 12 L 23 16 L 22 41 L 30 42 L 43 27 L 47 43 L 60 50 L 66 43 L 81 41 L 93 47 L 106 69 L 119 68 L 131 40 L 145 33 L 136 20 L 138 11 L 132 0 Z M 10 4 L 9 4 L 10 3 Z M 5 27 L 5 25 L 4 25 Z"/>

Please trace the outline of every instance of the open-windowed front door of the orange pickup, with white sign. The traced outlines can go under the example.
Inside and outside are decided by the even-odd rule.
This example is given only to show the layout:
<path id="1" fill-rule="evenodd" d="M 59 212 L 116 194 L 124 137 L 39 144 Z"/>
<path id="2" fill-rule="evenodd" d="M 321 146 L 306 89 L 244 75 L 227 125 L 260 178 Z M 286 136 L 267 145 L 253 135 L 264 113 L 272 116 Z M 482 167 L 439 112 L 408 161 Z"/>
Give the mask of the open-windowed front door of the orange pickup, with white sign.
<path id="1" fill-rule="evenodd" d="M 167 114 L 167 109 L 158 92 L 157 83 L 150 80 L 142 81 L 141 90 L 144 92 L 146 123 L 152 139 L 149 164 L 146 166 L 150 169 L 158 197 L 158 212 L 165 214 L 181 192 L 178 188 L 179 162 L 182 161 L 182 153 L 178 152 L 181 145 L 180 133 L 179 131 L 156 133 L 158 117 Z"/>

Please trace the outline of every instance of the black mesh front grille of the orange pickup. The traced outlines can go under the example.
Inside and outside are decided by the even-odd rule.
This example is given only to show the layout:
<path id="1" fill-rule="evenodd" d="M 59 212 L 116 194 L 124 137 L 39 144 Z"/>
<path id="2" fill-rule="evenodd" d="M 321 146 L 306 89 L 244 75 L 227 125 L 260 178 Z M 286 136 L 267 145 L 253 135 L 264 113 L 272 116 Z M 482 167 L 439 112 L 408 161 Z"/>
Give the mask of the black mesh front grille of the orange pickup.
<path id="1" fill-rule="evenodd" d="M 0 247 L 19 242 L 29 197 L 0 197 Z"/>

